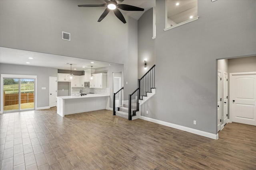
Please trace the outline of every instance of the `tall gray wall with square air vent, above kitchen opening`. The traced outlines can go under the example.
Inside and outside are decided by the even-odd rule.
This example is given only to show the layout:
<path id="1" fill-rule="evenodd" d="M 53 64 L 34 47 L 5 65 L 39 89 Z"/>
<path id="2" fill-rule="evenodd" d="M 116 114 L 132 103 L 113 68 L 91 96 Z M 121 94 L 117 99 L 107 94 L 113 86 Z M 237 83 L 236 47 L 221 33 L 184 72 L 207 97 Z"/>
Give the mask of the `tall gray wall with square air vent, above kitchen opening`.
<path id="1" fill-rule="evenodd" d="M 124 64 L 125 96 L 137 86 L 138 21 L 104 8 L 80 8 L 94 0 L 1 0 L 0 46 Z M 62 31 L 71 41 L 62 40 Z"/>

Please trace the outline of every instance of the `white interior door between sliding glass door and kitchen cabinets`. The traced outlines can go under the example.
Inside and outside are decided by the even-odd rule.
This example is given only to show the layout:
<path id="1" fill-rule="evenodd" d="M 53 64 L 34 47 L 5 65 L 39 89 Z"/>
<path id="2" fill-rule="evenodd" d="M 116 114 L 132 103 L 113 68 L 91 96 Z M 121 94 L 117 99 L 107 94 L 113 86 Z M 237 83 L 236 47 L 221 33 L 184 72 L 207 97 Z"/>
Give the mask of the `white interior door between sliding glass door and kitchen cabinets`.
<path id="1" fill-rule="evenodd" d="M 49 106 L 56 106 L 57 77 L 49 77 Z"/>

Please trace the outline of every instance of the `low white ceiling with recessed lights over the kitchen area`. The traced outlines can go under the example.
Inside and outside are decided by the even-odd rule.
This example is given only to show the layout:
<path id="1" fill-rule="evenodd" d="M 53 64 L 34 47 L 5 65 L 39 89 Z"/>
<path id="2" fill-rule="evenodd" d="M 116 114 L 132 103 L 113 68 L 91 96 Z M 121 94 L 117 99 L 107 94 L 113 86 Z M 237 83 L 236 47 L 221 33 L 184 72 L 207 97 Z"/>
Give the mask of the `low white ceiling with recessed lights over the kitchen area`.
<path id="1" fill-rule="evenodd" d="M 33 59 L 28 59 L 29 57 L 32 57 Z M 29 64 L 26 62 L 29 62 Z M 92 64 L 91 62 L 94 63 Z M 109 67 L 110 65 L 119 65 L 117 63 L 107 63 L 103 61 L 93 61 L 74 57 L 66 57 L 62 55 L 52 55 L 18 49 L 10 49 L 5 47 L 0 47 L 0 63 L 41 66 L 57 68 L 60 70 L 70 70 L 70 64 L 72 64 L 72 70 L 76 68 L 76 71 L 90 69 L 90 66 L 93 66 L 93 68 L 103 68 Z M 85 68 L 83 68 L 83 66 L 85 66 Z"/>

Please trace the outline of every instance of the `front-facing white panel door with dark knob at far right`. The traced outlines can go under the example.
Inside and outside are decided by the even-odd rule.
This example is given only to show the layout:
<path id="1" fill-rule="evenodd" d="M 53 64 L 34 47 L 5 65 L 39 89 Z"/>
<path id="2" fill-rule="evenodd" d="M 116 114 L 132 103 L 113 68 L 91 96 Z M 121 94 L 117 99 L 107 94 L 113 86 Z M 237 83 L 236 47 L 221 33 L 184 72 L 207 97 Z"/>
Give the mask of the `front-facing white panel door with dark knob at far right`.
<path id="1" fill-rule="evenodd" d="M 232 121 L 256 125 L 256 72 L 230 73 Z"/>

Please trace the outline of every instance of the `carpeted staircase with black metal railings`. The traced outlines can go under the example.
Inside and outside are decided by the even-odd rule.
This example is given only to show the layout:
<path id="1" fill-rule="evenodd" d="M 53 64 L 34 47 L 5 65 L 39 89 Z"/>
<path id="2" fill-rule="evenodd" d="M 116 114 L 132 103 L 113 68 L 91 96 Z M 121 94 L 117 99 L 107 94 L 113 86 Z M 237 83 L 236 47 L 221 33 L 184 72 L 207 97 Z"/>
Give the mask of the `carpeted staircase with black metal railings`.
<path id="1" fill-rule="evenodd" d="M 122 87 L 113 96 L 113 115 L 123 117 L 128 120 L 140 118 L 141 105 L 156 94 L 155 88 L 155 66 L 138 79 L 138 88 L 129 95 L 128 104 L 122 104 Z"/>

